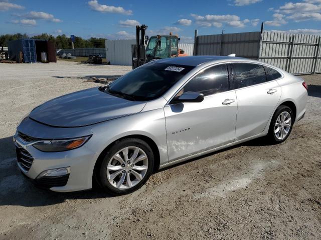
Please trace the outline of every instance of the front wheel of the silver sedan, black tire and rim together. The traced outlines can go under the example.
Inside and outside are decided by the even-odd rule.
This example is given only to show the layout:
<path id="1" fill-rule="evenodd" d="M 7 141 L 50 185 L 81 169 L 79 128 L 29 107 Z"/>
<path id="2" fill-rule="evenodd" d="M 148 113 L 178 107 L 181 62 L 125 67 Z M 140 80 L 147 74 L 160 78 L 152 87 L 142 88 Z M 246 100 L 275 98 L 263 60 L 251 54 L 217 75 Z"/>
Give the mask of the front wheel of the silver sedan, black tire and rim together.
<path id="1" fill-rule="evenodd" d="M 131 193 L 148 180 L 153 163 L 153 152 L 145 141 L 139 138 L 117 140 L 103 157 L 100 184 L 113 195 Z"/>

